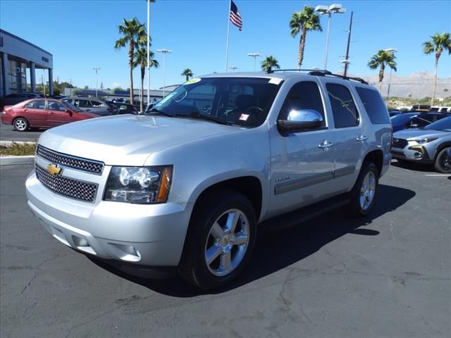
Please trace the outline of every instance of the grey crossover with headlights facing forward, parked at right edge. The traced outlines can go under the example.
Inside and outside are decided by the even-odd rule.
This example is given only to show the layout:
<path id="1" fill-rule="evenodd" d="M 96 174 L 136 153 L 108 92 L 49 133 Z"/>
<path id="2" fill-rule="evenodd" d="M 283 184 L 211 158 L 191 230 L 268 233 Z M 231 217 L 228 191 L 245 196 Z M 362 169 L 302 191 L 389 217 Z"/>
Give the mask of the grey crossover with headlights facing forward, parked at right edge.
<path id="1" fill-rule="evenodd" d="M 451 116 L 448 116 L 421 129 L 395 132 L 391 153 L 400 164 L 433 163 L 440 173 L 451 173 L 450 147 Z"/>

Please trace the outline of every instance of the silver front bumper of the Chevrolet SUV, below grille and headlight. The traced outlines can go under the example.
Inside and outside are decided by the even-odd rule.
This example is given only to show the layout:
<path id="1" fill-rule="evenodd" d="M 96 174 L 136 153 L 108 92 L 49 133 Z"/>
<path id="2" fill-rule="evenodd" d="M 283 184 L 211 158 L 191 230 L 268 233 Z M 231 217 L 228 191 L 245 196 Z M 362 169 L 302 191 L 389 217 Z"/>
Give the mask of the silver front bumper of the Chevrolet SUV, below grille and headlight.
<path id="1" fill-rule="evenodd" d="M 178 265 L 194 203 L 75 201 L 44 187 L 34 170 L 25 185 L 28 206 L 47 232 L 63 244 L 106 260 Z"/>

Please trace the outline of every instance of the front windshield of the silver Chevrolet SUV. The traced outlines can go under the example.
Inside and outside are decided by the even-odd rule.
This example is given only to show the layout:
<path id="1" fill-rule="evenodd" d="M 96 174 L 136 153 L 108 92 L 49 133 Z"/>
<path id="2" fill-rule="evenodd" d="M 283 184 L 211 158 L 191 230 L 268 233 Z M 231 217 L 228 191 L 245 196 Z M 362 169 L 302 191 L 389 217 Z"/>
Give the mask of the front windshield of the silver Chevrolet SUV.
<path id="1" fill-rule="evenodd" d="M 206 77 L 191 79 L 148 111 L 220 123 L 257 127 L 268 115 L 280 83 L 257 77 Z"/>

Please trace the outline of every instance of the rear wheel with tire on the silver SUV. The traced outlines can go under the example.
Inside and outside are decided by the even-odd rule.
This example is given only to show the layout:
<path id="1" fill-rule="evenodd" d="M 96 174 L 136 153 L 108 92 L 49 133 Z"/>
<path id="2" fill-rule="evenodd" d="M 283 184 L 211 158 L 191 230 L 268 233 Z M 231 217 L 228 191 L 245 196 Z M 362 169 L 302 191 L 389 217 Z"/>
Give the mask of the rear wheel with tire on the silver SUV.
<path id="1" fill-rule="evenodd" d="M 379 170 L 372 162 L 364 162 L 357 182 L 351 191 L 350 212 L 355 216 L 368 215 L 376 200 Z"/>

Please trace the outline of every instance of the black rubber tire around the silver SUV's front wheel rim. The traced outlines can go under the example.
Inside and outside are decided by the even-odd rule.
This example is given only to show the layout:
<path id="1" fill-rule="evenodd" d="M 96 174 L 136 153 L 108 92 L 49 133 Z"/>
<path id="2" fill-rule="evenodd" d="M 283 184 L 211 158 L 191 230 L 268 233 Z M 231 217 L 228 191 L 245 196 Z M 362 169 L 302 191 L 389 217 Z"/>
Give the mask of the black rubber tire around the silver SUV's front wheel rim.
<path id="1" fill-rule="evenodd" d="M 220 216 L 230 211 L 230 209 L 237 209 L 247 218 L 247 222 L 245 222 L 249 224 L 247 248 L 234 270 L 231 270 L 227 275 L 218 276 L 214 275 L 210 269 L 212 264 L 215 262 L 219 263 L 219 261 L 213 261 L 207 265 L 205 258 L 206 246 L 209 246 L 208 241 L 211 238 L 210 231 L 212 226 L 216 221 L 219 223 L 219 220 L 221 220 Z M 194 208 L 185 239 L 183 255 L 178 266 L 179 273 L 184 280 L 204 290 L 223 287 L 235 279 L 245 267 L 254 249 L 256 238 L 257 217 L 252 203 L 246 196 L 228 190 L 220 190 L 208 194 L 197 201 L 197 207 Z M 220 260 L 221 255 L 222 253 L 215 260 Z M 230 255 L 233 257 L 232 249 L 230 250 Z M 235 257 L 237 257 L 236 255 L 237 251 L 235 251 Z"/>

